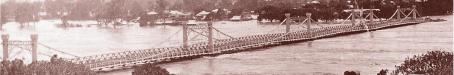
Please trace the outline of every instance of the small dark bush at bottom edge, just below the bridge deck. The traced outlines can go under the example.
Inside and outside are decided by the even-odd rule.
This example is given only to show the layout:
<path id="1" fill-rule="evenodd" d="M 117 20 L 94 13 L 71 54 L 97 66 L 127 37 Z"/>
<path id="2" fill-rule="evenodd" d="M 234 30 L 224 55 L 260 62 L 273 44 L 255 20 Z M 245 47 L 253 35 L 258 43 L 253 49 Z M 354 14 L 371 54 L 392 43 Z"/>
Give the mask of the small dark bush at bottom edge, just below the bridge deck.
<path id="1" fill-rule="evenodd" d="M 142 66 L 134 67 L 132 75 L 170 75 L 170 73 L 155 64 L 144 64 Z"/>

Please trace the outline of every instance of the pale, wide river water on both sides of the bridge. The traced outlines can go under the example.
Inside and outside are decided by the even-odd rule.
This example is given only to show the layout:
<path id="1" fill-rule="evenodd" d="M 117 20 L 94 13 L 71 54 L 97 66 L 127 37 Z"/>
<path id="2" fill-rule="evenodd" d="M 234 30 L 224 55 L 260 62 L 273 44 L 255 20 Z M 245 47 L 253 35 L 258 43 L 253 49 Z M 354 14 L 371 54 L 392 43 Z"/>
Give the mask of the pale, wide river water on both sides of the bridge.
<path id="1" fill-rule="evenodd" d="M 269 47 L 214 57 L 161 64 L 177 75 L 330 75 L 357 70 L 373 75 L 381 69 L 394 69 L 409 56 L 431 50 L 452 51 L 451 16 L 434 16 L 448 21 L 429 22 L 377 30 L 289 45 Z M 60 27 L 59 20 L 43 20 L 21 26 L 7 23 L 3 34 L 12 40 L 29 40 L 38 34 L 39 42 L 77 56 L 181 45 L 181 27 L 124 25 L 117 28 L 96 26 L 94 21 L 72 21 L 81 27 Z M 259 24 L 255 21 L 215 22 L 214 27 L 232 36 L 284 32 L 284 26 Z M 293 29 L 301 29 L 293 26 Z M 192 35 L 193 36 L 193 35 Z M 220 34 L 217 38 L 226 38 Z M 203 41 L 203 37 L 199 37 Z M 197 39 L 195 39 L 197 41 Z M 69 55 L 39 47 L 43 54 Z M 13 49 L 11 57 L 28 60 L 30 52 Z M 49 57 L 41 55 L 40 60 Z M 132 70 L 102 73 L 130 75 Z"/>

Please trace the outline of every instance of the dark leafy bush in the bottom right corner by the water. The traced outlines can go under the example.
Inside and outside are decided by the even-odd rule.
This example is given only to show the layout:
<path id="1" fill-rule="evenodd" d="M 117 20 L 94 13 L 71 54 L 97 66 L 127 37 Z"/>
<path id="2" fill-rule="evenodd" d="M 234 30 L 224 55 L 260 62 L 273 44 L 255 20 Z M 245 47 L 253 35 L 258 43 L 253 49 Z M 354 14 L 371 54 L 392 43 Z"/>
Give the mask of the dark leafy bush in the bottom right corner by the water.
<path id="1" fill-rule="evenodd" d="M 430 51 L 426 54 L 406 58 L 404 63 L 396 66 L 396 73 L 453 75 L 452 52 Z"/>

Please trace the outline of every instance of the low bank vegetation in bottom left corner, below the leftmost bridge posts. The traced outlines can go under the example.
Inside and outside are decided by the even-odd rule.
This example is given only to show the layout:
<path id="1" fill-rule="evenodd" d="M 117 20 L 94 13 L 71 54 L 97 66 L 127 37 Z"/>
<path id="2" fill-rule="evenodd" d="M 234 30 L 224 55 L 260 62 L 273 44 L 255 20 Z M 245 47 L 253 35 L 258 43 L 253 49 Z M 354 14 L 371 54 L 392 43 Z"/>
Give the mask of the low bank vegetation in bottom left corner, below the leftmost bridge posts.
<path id="1" fill-rule="evenodd" d="M 81 64 L 62 59 L 24 64 L 23 60 L 1 61 L 0 75 L 96 75 Z"/>

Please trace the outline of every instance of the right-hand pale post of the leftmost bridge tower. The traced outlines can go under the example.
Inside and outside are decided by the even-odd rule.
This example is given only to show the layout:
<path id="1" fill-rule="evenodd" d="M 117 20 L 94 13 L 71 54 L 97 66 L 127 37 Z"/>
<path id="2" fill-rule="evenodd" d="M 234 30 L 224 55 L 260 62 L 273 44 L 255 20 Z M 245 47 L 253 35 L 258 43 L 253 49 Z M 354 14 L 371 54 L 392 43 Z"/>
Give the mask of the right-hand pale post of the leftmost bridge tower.
<path id="1" fill-rule="evenodd" d="M 32 63 L 37 61 L 38 58 L 38 35 L 32 34 L 31 38 L 31 45 L 32 45 Z"/>

